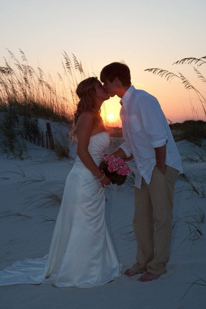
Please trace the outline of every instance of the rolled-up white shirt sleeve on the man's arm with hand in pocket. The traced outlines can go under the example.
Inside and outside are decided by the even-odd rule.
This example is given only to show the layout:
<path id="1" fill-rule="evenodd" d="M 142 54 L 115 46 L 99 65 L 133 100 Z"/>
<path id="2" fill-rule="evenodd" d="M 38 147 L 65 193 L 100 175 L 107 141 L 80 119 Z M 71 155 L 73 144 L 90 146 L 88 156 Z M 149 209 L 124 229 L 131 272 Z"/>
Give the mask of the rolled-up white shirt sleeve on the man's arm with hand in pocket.
<path id="1" fill-rule="evenodd" d="M 145 132 L 151 136 L 154 148 L 164 146 L 169 138 L 165 128 L 164 118 L 160 104 L 155 97 L 141 95 L 136 104 L 136 112 L 142 118 Z"/>

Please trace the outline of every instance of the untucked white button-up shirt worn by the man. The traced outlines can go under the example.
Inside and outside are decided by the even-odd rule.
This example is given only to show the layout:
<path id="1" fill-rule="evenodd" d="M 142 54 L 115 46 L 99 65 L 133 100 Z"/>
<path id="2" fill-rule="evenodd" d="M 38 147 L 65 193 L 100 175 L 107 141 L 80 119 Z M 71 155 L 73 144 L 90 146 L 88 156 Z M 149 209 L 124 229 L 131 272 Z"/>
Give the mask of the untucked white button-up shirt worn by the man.
<path id="1" fill-rule="evenodd" d="M 121 101 L 120 118 L 124 143 L 120 146 L 127 157 L 134 155 L 137 172 L 135 186 L 141 187 L 143 177 L 150 183 L 156 165 L 155 150 L 166 144 L 166 165 L 182 171 L 177 146 L 158 100 L 143 90 L 130 86 Z"/>

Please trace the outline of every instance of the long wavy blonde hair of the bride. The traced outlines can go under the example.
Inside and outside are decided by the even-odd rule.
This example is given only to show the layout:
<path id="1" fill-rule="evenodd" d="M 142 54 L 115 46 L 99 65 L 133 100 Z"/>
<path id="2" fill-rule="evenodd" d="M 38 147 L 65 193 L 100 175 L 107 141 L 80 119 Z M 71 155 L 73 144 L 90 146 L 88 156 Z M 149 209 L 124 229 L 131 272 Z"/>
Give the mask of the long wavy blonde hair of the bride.
<path id="1" fill-rule="evenodd" d="M 81 112 L 91 112 L 95 117 L 95 124 L 97 125 L 99 125 L 99 122 L 102 120 L 100 116 L 101 109 L 99 105 L 96 104 L 95 98 L 95 84 L 97 80 L 97 77 L 89 77 L 82 80 L 82 82 L 80 82 L 77 86 L 76 94 L 78 95 L 80 100 L 77 104 L 77 109 L 74 112 L 73 126 L 69 133 L 74 140 L 77 140 L 76 125 Z"/>

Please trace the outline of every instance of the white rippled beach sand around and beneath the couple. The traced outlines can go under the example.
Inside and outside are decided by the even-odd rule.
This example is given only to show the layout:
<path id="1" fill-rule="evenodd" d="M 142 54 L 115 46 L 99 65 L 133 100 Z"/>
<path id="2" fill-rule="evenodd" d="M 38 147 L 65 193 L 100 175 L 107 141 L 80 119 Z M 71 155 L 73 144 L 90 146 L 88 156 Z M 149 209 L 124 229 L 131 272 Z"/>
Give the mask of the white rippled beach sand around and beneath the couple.
<path id="1" fill-rule="evenodd" d="M 44 121 L 41 121 L 45 126 Z M 58 130 L 61 128 L 65 135 L 66 126 L 52 123 Z M 52 128 L 54 131 L 54 128 Z M 181 154 L 190 153 L 192 145 L 181 141 L 177 143 Z M 53 234 L 54 223 L 44 222 L 40 217 L 56 218 L 59 206 L 47 204 L 40 206 L 47 200 L 40 200 L 44 190 L 55 192 L 64 188 L 67 174 L 72 166 L 72 160 L 58 161 L 56 155 L 45 148 L 27 142 L 28 153 L 24 160 L 7 159 L 7 155 L 0 155 L 0 216 L 21 212 L 32 218 L 9 216 L 0 218 L 1 243 L 0 253 L 1 269 L 10 266 L 16 260 L 24 258 L 41 258 L 48 253 Z M 70 153 L 75 158 L 75 145 L 70 145 Z M 27 157 L 27 158 L 26 158 Z M 205 175 L 206 163 L 184 163 L 185 172 Z M 14 173 L 25 173 L 25 177 Z M 201 171 L 197 173 L 198 171 Z M 11 172 L 8 172 L 11 171 Z M 38 172 L 43 172 L 44 181 L 31 184 L 22 183 L 30 179 L 37 179 Z M 191 174 L 191 175 L 192 175 Z M 8 178 L 8 179 L 6 179 Z M 205 176 L 204 176 L 204 188 Z M 183 180 L 177 180 L 176 188 L 182 187 Z M 117 190 L 113 185 L 111 190 L 105 191 L 106 222 L 113 239 L 114 247 L 124 270 L 135 262 L 136 241 L 132 231 L 133 193 L 131 189 L 122 186 Z M 176 191 L 179 191 L 176 189 Z M 60 193 L 61 195 L 62 193 Z M 185 216 L 193 210 L 192 205 L 199 205 L 205 212 L 205 198 L 193 195 L 188 191 L 175 194 L 174 221 Z M 32 203 L 33 202 L 33 203 Z M 32 203 L 32 204 L 31 204 Z M 197 204 L 196 204 L 197 203 Z M 29 205 L 31 204 L 31 205 Z M 195 213 L 190 213 L 195 214 Z M 171 245 L 170 261 L 167 273 L 152 282 L 139 282 L 140 275 L 128 278 L 122 275 L 114 282 L 96 288 L 55 288 L 49 284 L 0 287 L 1 309 L 205 309 L 206 286 L 193 285 L 185 295 L 190 284 L 199 276 L 206 281 L 206 225 L 200 223 L 203 236 L 199 239 L 188 238 L 180 243 L 189 234 L 187 226 L 174 228 Z M 193 234 L 192 234 L 193 235 Z M 131 237 L 130 240 L 127 237 Z M 197 282 L 203 283 L 204 282 Z"/>

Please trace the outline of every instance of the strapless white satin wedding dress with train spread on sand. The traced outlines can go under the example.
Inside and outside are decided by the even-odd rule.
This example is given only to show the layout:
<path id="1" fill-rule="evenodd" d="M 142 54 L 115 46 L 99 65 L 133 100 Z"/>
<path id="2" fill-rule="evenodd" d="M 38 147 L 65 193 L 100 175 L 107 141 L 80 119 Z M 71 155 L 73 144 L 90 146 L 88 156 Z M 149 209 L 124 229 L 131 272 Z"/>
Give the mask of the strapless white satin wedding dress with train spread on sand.
<path id="1" fill-rule="evenodd" d="M 88 150 L 99 166 L 110 143 L 107 132 L 90 137 Z M 105 197 L 97 178 L 77 157 L 66 179 L 50 250 L 42 259 L 17 261 L 0 272 L 0 286 L 50 283 L 91 287 L 121 275 L 105 224 Z"/>

